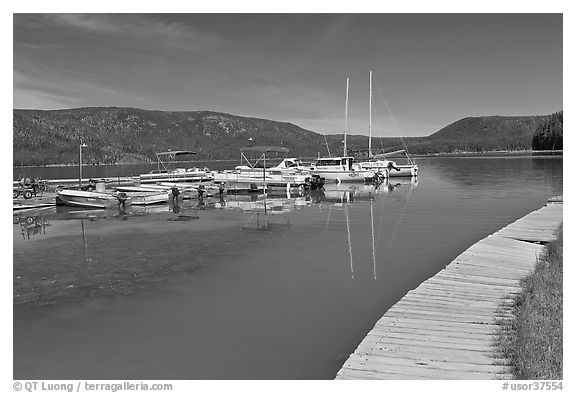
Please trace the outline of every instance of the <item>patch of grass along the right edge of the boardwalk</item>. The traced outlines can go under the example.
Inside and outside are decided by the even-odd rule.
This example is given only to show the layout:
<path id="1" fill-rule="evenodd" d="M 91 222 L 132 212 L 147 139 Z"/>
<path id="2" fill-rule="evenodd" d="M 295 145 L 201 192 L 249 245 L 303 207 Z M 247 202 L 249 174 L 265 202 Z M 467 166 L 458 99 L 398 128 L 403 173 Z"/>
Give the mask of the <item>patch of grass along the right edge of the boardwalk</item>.
<path id="1" fill-rule="evenodd" d="M 500 321 L 498 345 L 518 379 L 562 379 L 562 239 L 560 226 Z"/>

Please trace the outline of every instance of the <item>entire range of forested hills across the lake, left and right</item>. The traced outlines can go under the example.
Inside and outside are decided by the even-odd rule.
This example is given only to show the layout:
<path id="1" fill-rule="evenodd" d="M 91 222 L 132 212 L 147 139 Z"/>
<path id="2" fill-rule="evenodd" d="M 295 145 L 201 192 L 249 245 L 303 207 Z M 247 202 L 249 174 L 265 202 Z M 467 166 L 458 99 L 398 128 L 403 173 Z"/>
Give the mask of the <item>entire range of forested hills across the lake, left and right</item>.
<path id="1" fill-rule="evenodd" d="M 198 160 L 236 159 L 241 147 L 283 146 L 290 155 L 314 157 L 342 154 L 342 134 L 327 135 L 291 123 L 208 111 L 166 112 L 132 108 L 78 108 L 13 111 L 14 165 L 78 162 L 131 163 L 154 161 L 155 153 L 193 150 Z M 459 120 L 428 136 L 404 138 L 414 154 L 529 150 L 534 132 L 549 116 L 475 117 Z M 366 154 L 368 138 L 349 135 L 355 156 Z M 399 138 L 373 138 L 373 152 L 402 148 Z"/>

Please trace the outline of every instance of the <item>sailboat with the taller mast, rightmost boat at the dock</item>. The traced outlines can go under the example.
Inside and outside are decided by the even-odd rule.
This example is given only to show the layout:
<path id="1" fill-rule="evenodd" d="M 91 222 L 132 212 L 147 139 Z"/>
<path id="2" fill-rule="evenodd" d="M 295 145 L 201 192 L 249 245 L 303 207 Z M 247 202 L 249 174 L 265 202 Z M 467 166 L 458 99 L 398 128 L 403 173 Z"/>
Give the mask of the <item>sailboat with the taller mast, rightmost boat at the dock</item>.
<path id="1" fill-rule="evenodd" d="M 369 100 L 369 122 L 368 122 L 368 159 L 369 161 L 361 162 L 359 165 L 364 169 L 372 169 L 381 173 L 385 177 L 400 176 L 418 176 L 418 165 L 408 155 L 406 149 L 396 150 L 382 154 L 372 154 L 372 71 L 370 71 L 370 100 Z M 406 158 L 406 164 L 397 164 L 395 161 L 388 160 L 387 157 L 393 157 L 403 154 Z"/>

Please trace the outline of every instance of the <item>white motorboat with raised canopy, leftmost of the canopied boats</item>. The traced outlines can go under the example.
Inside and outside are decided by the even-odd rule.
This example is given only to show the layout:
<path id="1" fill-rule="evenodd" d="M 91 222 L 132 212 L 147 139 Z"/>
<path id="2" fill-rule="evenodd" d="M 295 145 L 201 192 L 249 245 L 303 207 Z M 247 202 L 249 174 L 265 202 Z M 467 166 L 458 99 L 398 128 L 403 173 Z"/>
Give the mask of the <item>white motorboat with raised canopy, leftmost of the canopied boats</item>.
<path id="1" fill-rule="evenodd" d="M 175 168 L 176 159 L 181 156 L 196 154 L 194 151 L 175 150 L 156 153 L 158 169 L 150 173 L 140 175 L 140 184 L 156 183 L 159 181 L 169 182 L 203 182 L 213 179 L 212 172 L 208 168 Z"/>

